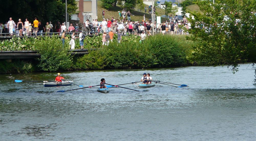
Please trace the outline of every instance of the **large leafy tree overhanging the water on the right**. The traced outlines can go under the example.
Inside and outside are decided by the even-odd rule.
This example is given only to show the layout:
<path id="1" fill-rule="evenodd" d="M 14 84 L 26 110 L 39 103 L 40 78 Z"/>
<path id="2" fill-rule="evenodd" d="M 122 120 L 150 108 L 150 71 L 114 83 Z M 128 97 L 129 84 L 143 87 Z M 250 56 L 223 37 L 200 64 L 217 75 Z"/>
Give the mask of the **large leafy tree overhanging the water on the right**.
<path id="1" fill-rule="evenodd" d="M 204 14 L 191 12 L 194 20 L 188 40 L 198 42 L 192 60 L 202 65 L 232 65 L 233 73 L 238 63 L 256 62 L 256 11 L 255 0 L 197 1 Z M 256 72 L 256 70 L 255 70 Z"/>

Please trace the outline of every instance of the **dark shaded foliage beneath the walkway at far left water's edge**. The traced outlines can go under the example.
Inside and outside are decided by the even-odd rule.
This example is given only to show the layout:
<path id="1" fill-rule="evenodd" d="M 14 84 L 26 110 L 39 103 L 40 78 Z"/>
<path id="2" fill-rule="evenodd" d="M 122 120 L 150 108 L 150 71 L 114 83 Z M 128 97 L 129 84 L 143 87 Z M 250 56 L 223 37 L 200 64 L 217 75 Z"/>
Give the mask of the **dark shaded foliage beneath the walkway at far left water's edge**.
<path id="1" fill-rule="evenodd" d="M 20 61 L 19 59 L 12 62 L 0 61 L 0 74 L 10 73 L 30 73 L 33 72 L 35 66 L 30 61 Z"/>

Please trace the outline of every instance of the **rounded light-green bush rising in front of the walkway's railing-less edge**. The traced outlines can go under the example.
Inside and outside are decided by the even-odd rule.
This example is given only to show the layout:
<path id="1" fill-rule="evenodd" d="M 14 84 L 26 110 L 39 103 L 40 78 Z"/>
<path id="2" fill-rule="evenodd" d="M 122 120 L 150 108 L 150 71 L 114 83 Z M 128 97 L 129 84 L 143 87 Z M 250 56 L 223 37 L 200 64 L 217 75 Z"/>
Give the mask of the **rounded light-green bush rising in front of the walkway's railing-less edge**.
<path id="1" fill-rule="evenodd" d="M 69 43 L 62 45 L 57 36 L 44 37 L 35 42 L 36 50 L 41 54 L 38 67 L 43 71 L 68 70 L 72 64 L 72 56 L 68 54 Z"/>

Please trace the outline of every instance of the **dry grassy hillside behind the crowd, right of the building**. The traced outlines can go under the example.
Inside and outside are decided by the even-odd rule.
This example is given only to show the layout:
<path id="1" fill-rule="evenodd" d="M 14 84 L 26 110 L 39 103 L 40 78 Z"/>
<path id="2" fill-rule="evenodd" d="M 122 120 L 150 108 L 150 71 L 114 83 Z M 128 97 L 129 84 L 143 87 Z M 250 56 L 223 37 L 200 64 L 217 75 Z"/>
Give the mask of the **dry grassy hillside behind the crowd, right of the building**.
<path id="1" fill-rule="evenodd" d="M 98 6 L 98 21 L 102 21 L 102 10 L 105 11 L 105 16 L 104 16 L 105 19 L 106 18 L 111 19 L 111 17 L 114 17 L 114 19 L 117 19 L 118 11 L 122 12 L 123 10 L 119 5 L 117 5 L 116 7 L 111 7 L 109 10 L 106 10 L 101 6 L 101 1 L 98 1 L 97 6 Z M 133 21 L 138 21 L 138 20 L 142 21 L 144 14 L 145 14 L 146 20 L 151 18 L 151 15 L 148 13 L 148 9 L 147 9 L 147 13 L 145 13 L 144 9 L 142 11 L 132 10 L 131 13 L 134 15 L 134 16 L 131 16 L 131 20 Z M 164 9 L 156 8 L 156 13 L 157 13 L 156 16 L 164 15 Z M 127 19 L 127 16 L 126 16 L 126 19 Z M 162 21 L 165 20 L 164 18 L 161 18 L 161 19 Z"/>

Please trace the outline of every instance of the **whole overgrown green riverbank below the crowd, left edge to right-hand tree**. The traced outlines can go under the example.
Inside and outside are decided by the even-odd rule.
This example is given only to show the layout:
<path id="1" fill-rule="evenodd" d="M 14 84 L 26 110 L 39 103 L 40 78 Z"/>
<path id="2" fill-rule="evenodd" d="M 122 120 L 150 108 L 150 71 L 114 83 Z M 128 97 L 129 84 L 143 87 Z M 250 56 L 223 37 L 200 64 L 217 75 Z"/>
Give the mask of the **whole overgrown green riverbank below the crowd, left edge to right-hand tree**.
<path id="1" fill-rule="evenodd" d="M 25 40 L 25 41 L 24 41 Z M 94 69 L 132 69 L 132 68 L 156 68 L 176 67 L 190 65 L 187 56 L 194 45 L 187 41 L 185 36 L 171 36 L 157 34 L 146 38 L 140 43 L 138 36 L 124 36 L 122 42 L 114 41 L 108 46 L 101 45 L 101 36 L 88 37 L 84 41 L 86 48 L 99 48 L 89 51 L 89 54 L 77 57 L 67 54 L 69 42 L 62 42 L 58 37 L 44 37 L 36 39 L 13 39 L 18 47 L 15 49 L 35 49 L 41 53 L 41 58 L 15 59 L 12 62 L 0 61 L 1 74 L 29 73 L 29 72 L 55 72 L 67 70 L 94 70 Z M 24 43 L 29 47 L 23 46 Z M 14 49 L 13 48 L 13 49 Z M 79 41 L 76 40 L 76 48 Z"/>

